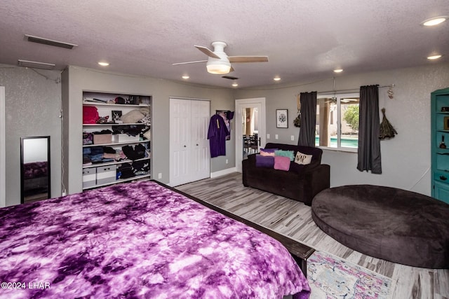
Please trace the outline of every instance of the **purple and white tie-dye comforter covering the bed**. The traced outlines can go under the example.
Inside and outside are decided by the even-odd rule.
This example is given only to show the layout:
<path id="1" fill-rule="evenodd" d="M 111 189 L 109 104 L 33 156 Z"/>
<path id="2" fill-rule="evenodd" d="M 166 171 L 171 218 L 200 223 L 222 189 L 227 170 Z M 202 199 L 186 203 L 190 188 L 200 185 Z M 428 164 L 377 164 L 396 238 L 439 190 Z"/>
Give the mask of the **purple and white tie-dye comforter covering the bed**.
<path id="1" fill-rule="evenodd" d="M 0 298 L 309 297 L 276 240 L 152 181 L 0 209 Z"/>

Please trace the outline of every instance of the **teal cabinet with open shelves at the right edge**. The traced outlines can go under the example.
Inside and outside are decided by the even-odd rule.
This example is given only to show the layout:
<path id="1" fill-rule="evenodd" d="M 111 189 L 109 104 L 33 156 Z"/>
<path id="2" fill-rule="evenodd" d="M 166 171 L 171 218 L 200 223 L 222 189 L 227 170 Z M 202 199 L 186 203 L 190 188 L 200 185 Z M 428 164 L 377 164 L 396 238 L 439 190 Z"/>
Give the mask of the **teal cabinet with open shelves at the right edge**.
<path id="1" fill-rule="evenodd" d="M 431 93 L 432 197 L 449 203 L 449 88 Z"/>

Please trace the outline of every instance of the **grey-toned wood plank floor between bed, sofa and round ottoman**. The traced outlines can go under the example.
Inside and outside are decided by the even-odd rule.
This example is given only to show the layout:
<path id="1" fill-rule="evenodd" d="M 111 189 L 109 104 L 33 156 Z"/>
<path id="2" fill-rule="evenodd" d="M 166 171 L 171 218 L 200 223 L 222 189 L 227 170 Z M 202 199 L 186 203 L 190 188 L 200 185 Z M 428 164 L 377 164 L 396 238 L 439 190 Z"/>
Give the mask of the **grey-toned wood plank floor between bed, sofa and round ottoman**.
<path id="1" fill-rule="evenodd" d="M 227 174 L 175 187 L 312 248 L 391 278 L 390 298 L 449 298 L 449 270 L 424 269 L 372 258 L 349 249 L 320 230 L 311 208 L 241 183 L 241 174 Z M 313 297 L 312 297 L 313 298 Z"/>

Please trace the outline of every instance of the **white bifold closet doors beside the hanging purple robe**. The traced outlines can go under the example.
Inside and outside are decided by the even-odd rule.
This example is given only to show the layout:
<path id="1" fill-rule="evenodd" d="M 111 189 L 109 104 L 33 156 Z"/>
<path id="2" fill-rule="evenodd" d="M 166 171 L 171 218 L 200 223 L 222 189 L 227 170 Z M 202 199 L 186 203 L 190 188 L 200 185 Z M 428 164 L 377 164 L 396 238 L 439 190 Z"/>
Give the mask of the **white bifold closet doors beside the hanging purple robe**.
<path id="1" fill-rule="evenodd" d="M 210 176 L 208 100 L 170 98 L 170 186 Z"/>

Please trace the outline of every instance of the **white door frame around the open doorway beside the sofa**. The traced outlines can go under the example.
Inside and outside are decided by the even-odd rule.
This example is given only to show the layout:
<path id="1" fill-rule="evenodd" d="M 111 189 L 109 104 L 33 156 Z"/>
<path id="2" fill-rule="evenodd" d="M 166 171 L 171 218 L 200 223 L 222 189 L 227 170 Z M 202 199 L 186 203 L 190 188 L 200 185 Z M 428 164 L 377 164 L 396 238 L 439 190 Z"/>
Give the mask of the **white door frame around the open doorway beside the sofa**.
<path id="1" fill-rule="evenodd" d="M 257 137 L 260 139 L 260 146 L 265 146 L 266 139 L 266 123 L 265 123 L 265 98 L 258 97 L 254 99 L 236 99 L 236 170 L 241 172 L 241 161 L 243 160 L 243 119 L 244 109 L 257 109 Z"/>

